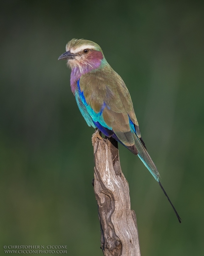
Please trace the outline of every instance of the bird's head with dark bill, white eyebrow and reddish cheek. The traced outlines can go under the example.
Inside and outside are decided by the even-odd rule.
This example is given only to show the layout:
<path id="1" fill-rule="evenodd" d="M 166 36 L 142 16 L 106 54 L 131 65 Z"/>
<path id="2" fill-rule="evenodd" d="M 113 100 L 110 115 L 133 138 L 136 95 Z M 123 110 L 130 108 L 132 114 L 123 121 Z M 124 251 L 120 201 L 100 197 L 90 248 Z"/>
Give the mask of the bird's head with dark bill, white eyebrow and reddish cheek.
<path id="1" fill-rule="evenodd" d="M 82 73 L 94 70 L 105 61 L 101 47 L 98 44 L 84 39 L 72 39 L 66 45 L 66 52 L 58 60 L 67 60 L 71 69 L 78 67 Z"/>

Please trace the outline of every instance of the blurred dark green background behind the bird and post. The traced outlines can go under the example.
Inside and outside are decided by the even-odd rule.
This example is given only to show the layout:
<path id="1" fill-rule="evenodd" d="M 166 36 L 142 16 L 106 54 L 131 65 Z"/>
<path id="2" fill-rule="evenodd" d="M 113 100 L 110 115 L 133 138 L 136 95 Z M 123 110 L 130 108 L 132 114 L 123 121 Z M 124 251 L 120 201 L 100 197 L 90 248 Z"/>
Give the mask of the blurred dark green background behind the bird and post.
<path id="1" fill-rule="evenodd" d="M 0 3 L 0 255 L 67 245 L 102 256 L 91 180 L 93 128 L 57 61 L 72 38 L 98 43 L 122 76 L 179 224 L 138 157 L 119 146 L 142 256 L 204 253 L 204 2 Z"/>

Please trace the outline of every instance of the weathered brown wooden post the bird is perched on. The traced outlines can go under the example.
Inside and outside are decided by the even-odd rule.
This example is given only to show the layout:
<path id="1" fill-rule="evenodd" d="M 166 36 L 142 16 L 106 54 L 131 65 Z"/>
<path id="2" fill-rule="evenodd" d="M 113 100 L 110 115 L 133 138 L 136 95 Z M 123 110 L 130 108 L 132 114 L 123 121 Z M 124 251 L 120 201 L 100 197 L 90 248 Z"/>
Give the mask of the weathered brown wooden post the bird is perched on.
<path id="1" fill-rule="evenodd" d="M 105 256 L 140 256 L 136 215 L 130 209 L 129 186 L 119 161 L 117 141 L 102 138 L 97 130 L 94 146 L 94 192 Z"/>

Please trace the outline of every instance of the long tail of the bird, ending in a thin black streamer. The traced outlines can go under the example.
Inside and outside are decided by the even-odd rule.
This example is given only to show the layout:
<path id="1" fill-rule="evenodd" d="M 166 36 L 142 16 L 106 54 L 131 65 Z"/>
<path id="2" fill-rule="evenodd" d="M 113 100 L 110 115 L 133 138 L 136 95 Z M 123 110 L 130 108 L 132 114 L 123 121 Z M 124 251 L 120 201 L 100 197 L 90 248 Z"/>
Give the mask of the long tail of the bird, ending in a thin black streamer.
<path id="1" fill-rule="evenodd" d="M 172 202 L 170 201 L 170 198 L 168 197 L 166 191 L 164 190 L 163 186 L 161 185 L 161 182 L 159 181 L 159 177 L 160 177 L 159 172 L 157 171 L 156 166 L 155 166 L 153 160 L 151 159 L 150 155 L 147 153 L 147 149 L 146 149 L 142 139 L 140 140 L 136 136 L 136 134 L 134 134 L 134 140 L 135 140 L 135 146 L 137 148 L 139 158 L 142 160 L 144 165 L 147 167 L 147 169 L 153 175 L 155 180 L 159 183 L 159 186 L 161 187 L 162 191 L 164 192 L 164 195 L 167 197 L 174 212 L 176 213 L 178 221 L 181 223 L 181 218 L 179 217 L 178 212 L 176 212 L 176 209 L 174 208 Z"/>

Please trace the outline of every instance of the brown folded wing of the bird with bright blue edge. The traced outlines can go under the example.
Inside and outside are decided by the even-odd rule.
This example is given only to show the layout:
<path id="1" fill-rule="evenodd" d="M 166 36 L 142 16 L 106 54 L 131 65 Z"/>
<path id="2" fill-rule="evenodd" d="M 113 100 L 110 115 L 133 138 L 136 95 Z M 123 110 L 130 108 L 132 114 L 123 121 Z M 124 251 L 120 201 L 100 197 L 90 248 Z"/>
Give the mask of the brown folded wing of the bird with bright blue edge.
<path id="1" fill-rule="evenodd" d="M 126 146 L 140 136 L 130 93 L 121 77 L 111 68 L 83 75 L 77 82 L 80 98 L 93 122 L 116 134 Z"/>

